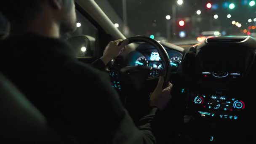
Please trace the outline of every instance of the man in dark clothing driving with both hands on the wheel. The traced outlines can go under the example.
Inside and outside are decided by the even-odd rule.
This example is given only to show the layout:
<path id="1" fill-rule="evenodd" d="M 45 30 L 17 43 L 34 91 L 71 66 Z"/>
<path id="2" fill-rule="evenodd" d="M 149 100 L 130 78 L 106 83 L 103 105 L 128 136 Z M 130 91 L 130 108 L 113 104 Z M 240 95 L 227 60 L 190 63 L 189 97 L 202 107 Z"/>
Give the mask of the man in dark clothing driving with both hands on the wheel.
<path id="1" fill-rule="evenodd" d="M 151 122 L 168 103 L 172 85 L 162 91 L 163 77 L 151 95 L 149 115 L 139 128 L 123 108 L 109 77 L 83 64 L 59 40 L 60 31 L 76 24 L 74 0 L 2 0 L 0 11 L 11 23 L 1 45 L 1 72 L 63 135 L 89 144 L 153 144 Z M 14 36 L 16 35 L 16 36 Z M 120 40 L 110 42 L 97 63 L 117 56 Z"/>

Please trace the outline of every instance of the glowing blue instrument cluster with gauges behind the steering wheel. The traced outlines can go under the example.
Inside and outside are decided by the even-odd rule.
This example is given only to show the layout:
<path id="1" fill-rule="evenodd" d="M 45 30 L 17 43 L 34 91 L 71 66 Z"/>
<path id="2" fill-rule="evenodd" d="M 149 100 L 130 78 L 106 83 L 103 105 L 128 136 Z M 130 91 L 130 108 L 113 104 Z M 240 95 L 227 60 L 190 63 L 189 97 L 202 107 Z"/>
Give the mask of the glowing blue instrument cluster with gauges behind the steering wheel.
<path id="1" fill-rule="evenodd" d="M 180 51 L 165 47 L 170 58 L 170 65 L 173 69 L 177 69 L 182 62 L 182 54 Z M 141 44 L 136 51 L 128 56 L 129 66 L 149 66 L 156 69 L 164 69 L 159 53 L 151 45 Z"/>

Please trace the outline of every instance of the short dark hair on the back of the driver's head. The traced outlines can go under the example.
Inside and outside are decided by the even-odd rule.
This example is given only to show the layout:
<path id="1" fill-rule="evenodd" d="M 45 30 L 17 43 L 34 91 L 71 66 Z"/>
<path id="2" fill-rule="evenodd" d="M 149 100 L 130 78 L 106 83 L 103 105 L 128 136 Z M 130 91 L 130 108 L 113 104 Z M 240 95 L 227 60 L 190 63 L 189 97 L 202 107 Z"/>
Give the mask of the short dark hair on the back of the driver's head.
<path id="1" fill-rule="evenodd" d="M 1 0 L 0 11 L 11 23 L 20 24 L 32 20 L 40 11 L 43 0 Z"/>

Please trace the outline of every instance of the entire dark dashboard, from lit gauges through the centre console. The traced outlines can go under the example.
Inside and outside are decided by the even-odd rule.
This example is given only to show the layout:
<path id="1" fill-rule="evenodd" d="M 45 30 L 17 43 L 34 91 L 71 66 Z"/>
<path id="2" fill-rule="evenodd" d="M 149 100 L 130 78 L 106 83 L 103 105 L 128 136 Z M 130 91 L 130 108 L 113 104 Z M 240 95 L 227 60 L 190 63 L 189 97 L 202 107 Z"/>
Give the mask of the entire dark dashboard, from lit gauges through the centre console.
<path id="1" fill-rule="evenodd" d="M 188 142 L 237 143 L 248 139 L 250 132 L 245 129 L 254 123 L 255 98 L 251 93 L 255 93 L 256 39 L 208 38 L 186 51 L 176 45 L 161 44 L 170 59 L 170 82 L 174 85 L 171 108 L 163 119 L 170 124 L 176 123 L 175 117 L 181 117 L 182 136 Z M 164 69 L 157 50 L 146 43 L 139 44 L 121 60 L 123 67 Z M 109 75 L 114 80 L 113 87 L 122 91 L 126 81 L 118 81 L 115 72 Z"/>

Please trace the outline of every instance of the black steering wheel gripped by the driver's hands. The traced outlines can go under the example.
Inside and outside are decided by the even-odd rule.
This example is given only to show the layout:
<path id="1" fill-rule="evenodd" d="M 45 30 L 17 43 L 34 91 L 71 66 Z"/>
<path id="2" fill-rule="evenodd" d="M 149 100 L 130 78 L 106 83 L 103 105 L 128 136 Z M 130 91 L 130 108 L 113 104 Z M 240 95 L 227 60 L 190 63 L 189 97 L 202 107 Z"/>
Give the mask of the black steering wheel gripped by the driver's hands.
<path id="1" fill-rule="evenodd" d="M 130 113 L 136 113 L 138 112 L 138 109 L 141 109 L 141 106 L 146 105 L 146 107 L 148 107 L 147 104 L 149 101 L 145 101 L 145 99 L 149 99 L 149 93 L 152 92 L 157 85 L 159 76 L 164 77 L 163 87 L 167 86 L 171 75 L 171 64 L 165 48 L 156 40 L 144 36 L 129 37 L 126 40 L 128 40 L 128 44 L 144 42 L 153 45 L 159 53 L 164 68 L 155 69 L 149 66 L 127 66 L 120 69 L 120 74 L 123 77 L 122 81 L 125 82 L 126 85 L 126 88 L 123 88 L 123 93 L 126 94 L 124 102 L 125 107 L 128 111 L 133 111 Z M 136 107 L 136 104 L 134 103 L 137 103 L 138 107 Z M 133 118 L 135 117 L 139 118 L 140 116 L 137 115 Z"/>

